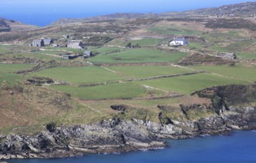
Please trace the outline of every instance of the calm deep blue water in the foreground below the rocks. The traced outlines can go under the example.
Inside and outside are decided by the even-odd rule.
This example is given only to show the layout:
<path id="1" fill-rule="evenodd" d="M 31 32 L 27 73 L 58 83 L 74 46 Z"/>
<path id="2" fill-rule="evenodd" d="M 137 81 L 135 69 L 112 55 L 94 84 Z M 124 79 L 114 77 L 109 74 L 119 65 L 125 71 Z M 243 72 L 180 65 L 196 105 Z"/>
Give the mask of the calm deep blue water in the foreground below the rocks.
<path id="1" fill-rule="evenodd" d="M 229 136 L 205 136 L 197 139 L 170 140 L 167 149 L 123 154 L 86 155 L 71 159 L 12 160 L 10 163 L 136 163 L 136 162 L 256 162 L 256 132 L 234 131 Z"/>

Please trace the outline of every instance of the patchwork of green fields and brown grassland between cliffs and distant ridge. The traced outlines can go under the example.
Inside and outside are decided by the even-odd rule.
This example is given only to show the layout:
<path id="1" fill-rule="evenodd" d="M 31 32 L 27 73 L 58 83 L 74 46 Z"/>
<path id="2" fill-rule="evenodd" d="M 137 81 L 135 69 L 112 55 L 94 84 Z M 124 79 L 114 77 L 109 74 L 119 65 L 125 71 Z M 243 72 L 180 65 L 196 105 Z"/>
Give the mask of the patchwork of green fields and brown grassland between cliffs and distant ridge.
<path id="1" fill-rule="evenodd" d="M 223 100 L 235 104 L 236 97 L 251 86 L 239 85 L 241 92 L 232 92 L 236 86 L 226 85 L 256 82 L 253 19 L 211 15 L 191 19 L 185 13 L 173 18 L 172 14 L 161 18 L 135 14 L 111 20 L 106 16 L 79 19 L 79 24 L 62 27 L 55 24 L 0 33 L 10 43 L 0 44 L 0 130 L 35 133 L 44 127 L 54 130 L 56 125 L 89 124 L 113 117 L 168 124 L 166 117 L 193 120 L 213 114 L 208 109 L 211 102 L 217 108 Z M 63 35 L 82 40 L 94 55 L 67 60 L 60 55 L 83 54 L 84 50 L 28 46 L 41 37 L 51 37 L 64 46 L 68 39 Z M 177 36 L 185 37 L 188 46 L 168 47 L 168 41 Z M 236 53 L 237 59 L 217 57 L 217 53 Z M 211 98 L 198 92 L 220 85 L 223 91 Z M 195 91 L 199 96 L 191 96 Z M 221 93 L 236 96 L 222 99 Z M 249 96 L 255 94 L 246 95 L 244 102 Z M 120 104 L 127 106 L 124 113 L 110 107 Z M 186 110 L 194 104 L 200 104 L 202 111 L 188 110 L 185 117 L 181 107 Z"/>

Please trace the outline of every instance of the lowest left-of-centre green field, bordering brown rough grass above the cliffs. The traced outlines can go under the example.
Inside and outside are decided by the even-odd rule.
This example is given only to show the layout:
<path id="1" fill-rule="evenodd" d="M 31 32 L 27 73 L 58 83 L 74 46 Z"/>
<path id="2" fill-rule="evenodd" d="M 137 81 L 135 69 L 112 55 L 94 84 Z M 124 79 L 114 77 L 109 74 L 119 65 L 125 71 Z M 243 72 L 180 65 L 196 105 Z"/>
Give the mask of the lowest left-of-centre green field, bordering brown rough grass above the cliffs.
<path id="1" fill-rule="evenodd" d="M 106 84 L 96 87 L 52 86 L 80 99 L 121 99 L 144 96 L 144 90 L 134 83 Z"/>

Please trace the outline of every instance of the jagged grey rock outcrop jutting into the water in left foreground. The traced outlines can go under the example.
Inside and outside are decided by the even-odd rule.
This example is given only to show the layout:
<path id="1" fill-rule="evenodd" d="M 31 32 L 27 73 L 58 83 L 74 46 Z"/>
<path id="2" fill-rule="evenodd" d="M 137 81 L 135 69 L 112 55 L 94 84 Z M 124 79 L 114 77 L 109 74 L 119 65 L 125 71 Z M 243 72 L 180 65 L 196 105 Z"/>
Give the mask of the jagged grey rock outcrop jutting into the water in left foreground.
<path id="1" fill-rule="evenodd" d="M 143 125 L 112 119 L 99 124 L 57 127 L 35 136 L 10 134 L 0 142 L 0 159 L 30 159 L 80 156 L 84 153 L 114 153 L 165 147 Z"/>

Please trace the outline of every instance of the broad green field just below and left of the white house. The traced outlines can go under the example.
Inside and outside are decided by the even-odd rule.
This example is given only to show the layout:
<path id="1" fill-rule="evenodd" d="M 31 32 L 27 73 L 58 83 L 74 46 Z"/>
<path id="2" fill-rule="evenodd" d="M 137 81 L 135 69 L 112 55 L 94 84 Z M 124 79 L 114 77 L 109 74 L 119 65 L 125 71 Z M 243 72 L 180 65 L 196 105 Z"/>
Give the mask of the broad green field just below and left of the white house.
<path id="1" fill-rule="evenodd" d="M 144 63 L 144 62 L 177 62 L 187 53 L 168 53 L 155 49 L 133 49 L 107 55 L 97 55 L 88 60 L 92 63 Z"/>

